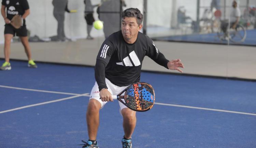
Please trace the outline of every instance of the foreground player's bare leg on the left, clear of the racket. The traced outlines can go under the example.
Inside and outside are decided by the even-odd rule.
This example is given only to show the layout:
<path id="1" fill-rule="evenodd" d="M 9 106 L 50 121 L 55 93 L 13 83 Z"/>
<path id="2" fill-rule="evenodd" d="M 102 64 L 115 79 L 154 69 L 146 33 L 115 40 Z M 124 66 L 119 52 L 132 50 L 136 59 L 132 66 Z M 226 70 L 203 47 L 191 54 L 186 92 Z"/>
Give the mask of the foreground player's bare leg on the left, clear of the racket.
<path id="1" fill-rule="evenodd" d="M 96 99 L 90 99 L 86 112 L 86 121 L 88 136 L 90 140 L 96 140 L 97 132 L 100 124 L 100 108 L 101 103 Z"/>

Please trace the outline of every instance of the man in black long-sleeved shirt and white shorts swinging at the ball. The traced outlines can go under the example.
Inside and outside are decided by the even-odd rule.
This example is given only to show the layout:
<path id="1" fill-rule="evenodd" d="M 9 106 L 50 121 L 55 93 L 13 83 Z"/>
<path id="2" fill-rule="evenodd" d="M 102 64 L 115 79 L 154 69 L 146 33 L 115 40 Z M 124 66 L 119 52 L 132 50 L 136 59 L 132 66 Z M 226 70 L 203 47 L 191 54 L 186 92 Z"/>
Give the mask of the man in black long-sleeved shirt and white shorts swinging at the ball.
<path id="1" fill-rule="evenodd" d="M 96 82 L 91 90 L 86 113 L 89 139 L 87 142 L 82 141 L 85 143 L 83 148 L 99 148 L 96 141 L 99 111 L 107 102 L 113 101 L 112 95 L 117 95 L 130 84 L 140 81 L 145 56 L 167 69 L 182 72 L 180 67 L 184 68 L 180 59 L 167 60 L 156 48 L 153 40 L 139 32 L 142 20 L 143 15 L 139 9 L 126 9 L 122 12 L 121 30 L 111 34 L 101 45 L 95 65 Z M 119 112 L 123 116 L 122 147 L 131 148 L 131 136 L 137 121 L 136 111 L 127 108 L 121 102 L 118 103 Z"/>

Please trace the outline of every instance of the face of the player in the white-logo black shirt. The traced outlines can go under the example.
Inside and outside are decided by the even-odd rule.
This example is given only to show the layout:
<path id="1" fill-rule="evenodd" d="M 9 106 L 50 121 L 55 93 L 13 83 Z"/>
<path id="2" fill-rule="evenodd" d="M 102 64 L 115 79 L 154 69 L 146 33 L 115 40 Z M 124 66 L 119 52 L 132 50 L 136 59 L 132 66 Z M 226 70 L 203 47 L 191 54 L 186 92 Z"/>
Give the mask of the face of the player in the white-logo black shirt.
<path id="1" fill-rule="evenodd" d="M 135 17 L 125 17 L 122 20 L 121 30 L 126 41 L 136 39 L 141 28 L 142 24 L 138 25 Z"/>

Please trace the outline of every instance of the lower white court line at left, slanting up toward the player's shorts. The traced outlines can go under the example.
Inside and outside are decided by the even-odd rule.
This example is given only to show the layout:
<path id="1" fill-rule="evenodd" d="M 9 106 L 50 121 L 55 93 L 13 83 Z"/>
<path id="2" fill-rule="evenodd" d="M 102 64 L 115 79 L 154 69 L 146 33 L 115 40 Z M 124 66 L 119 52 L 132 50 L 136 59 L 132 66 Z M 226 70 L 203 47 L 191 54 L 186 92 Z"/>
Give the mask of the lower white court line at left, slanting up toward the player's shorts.
<path id="1" fill-rule="evenodd" d="M 67 97 L 67 98 L 62 98 L 62 99 L 57 99 L 57 100 L 52 100 L 52 101 L 47 101 L 47 102 L 42 102 L 42 103 L 37 103 L 37 104 L 26 105 L 26 106 L 22 106 L 22 107 L 15 108 L 15 109 L 1 111 L 0 114 L 6 113 L 6 112 L 11 112 L 11 111 L 16 111 L 16 110 L 21 110 L 21 109 L 25 109 L 25 108 L 30 108 L 30 107 L 33 107 L 33 106 L 39 106 L 39 105 L 43 105 L 43 104 L 48 104 L 48 103 L 54 103 L 54 102 L 59 102 L 59 101 L 63 101 L 63 100 L 73 99 L 73 98 L 77 98 L 77 97 L 81 97 L 81 96 L 87 96 L 88 97 L 90 95 L 89 95 L 89 93 L 85 93 L 85 94 L 76 95 L 76 96 L 72 96 L 72 97 Z"/>

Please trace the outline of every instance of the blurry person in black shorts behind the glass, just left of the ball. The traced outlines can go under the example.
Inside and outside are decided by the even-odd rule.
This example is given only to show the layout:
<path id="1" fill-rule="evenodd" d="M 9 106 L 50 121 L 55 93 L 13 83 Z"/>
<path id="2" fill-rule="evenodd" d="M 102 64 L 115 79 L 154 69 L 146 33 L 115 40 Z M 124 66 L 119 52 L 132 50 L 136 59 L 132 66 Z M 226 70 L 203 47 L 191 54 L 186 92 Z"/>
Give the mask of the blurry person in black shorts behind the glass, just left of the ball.
<path id="1" fill-rule="evenodd" d="M 90 32 L 91 29 L 93 28 L 93 22 L 95 21 L 94 17 L 93 17 L 93 9 L 96 6 L 99 5 L 91 5 L 91 1 L 90 0 L 84 0 L 84 4 L 85 4 L 85 11 L 84 11 L 84 18 L 86 20 L 87 23 L 87 39 L 93 39 L 93 37 L 91 37 Z"/>

